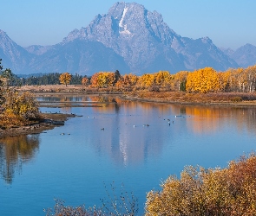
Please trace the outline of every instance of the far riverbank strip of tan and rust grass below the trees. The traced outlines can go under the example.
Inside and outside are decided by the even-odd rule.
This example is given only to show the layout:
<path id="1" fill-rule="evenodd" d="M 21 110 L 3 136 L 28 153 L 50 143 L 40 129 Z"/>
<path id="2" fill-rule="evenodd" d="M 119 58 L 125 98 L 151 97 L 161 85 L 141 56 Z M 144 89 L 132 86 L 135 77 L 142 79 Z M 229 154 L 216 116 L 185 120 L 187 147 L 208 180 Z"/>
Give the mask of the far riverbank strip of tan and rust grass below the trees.
<path id="1" fill-rule="evenodd" d="M 97 94 L 118 95 L 128 100 L 140 100 L 156 103 L 181 105 L 228 105 L 228 106 L 256 106 L 255 92 L 111 92 L 106 89 L 95 89 L 82 85 L 49 85 L 49 86 L 21 86 L 20 91 L 34 92 L 36 95 L 65 95 L 65 94 Z"/>

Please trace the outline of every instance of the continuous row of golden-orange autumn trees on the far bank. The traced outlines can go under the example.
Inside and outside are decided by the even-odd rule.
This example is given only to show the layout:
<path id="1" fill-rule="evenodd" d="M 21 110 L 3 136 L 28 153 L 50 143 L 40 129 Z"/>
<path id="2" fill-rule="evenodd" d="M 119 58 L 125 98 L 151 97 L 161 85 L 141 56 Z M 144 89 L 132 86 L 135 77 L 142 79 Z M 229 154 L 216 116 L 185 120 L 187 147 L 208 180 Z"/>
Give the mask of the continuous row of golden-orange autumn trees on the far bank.
<path id="1" fill-rule="evenodd" d="M 119 74 L 113 72 L 95 73 L 91 79 L 82 80 L 82 85 L 110 91 L 149 92 L 255 92 L 256 66 L 228 69 L 217 72 L 212 67 L 200 68 L 193 72 L 181 71 L 171 74 L 167 71 Z"/>

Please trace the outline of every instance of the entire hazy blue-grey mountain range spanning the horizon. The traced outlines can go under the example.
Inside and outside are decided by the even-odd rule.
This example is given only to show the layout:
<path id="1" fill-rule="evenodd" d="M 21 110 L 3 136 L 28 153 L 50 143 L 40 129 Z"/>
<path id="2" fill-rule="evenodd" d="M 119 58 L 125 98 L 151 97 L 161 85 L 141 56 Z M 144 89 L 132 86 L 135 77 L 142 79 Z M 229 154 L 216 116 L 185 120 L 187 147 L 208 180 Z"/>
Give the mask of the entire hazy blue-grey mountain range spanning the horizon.
<path id="1" fill-rule="evenodd" d="M 138 3 L 115 3 L 89 26 L 75 29 L 52 46 L 23 48 L 0 30 L 0 58 L 13 73 L 79 73 L 99 71 L 177 73 L 213 67 L 225 71 L 256 64 L 256 47 L 217 48 L 208 37 L 191 39 L 174 32 L 161 14 Z"/>

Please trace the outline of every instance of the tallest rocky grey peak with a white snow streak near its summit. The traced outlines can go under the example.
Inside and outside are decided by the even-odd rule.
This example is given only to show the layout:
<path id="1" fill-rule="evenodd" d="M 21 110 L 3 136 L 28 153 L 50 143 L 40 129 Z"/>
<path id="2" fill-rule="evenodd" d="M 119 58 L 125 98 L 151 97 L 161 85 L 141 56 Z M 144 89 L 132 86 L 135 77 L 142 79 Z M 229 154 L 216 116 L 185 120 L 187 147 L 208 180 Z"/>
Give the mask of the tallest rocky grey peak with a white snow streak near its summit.
<path id="1" fill-rule="evenodd" d="M 181 37 L 163 22 L 159 13 L 138 3 L 115 3 L 108 14 L 95 16 L 87 28 L 75 29 L 63 42 L 75 38 L 101 41 L 121 55 L 135 73 L 238 67 L 207 37 Z"/>

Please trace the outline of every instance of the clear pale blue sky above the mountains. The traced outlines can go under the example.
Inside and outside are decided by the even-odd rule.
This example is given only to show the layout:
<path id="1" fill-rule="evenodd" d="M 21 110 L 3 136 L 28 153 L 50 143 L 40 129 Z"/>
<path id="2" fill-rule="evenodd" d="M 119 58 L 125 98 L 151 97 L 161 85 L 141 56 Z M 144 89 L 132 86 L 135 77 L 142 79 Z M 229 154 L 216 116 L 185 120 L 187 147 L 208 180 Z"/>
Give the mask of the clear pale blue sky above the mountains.
<path id="1" fill-rule="evenodd" d="M 0 3 L 0 29 L 23 47 L 53 45 L 73 29 L 107 14 L 115 0 L 6 0 Z M 129 1 L 126 1 L 129 2 Z M 255 0 L 136 0 L 156 10 L 181 36 L 208 36 L 222 48 L 256 46 Z"/>

